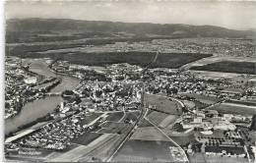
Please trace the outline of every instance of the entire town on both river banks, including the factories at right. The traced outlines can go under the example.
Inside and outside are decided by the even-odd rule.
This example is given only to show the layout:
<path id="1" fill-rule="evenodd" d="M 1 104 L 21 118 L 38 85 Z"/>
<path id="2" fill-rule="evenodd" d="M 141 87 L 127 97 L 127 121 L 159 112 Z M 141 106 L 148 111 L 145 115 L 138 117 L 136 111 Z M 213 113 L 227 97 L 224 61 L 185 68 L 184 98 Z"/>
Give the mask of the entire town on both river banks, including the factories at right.
<path id="1" fill-rule="evenodd" d="M 19 101 L 6 101 L 6 106 L 9 106 L 6 107 L 7 115 L 19 114 L 27 102 L 49 96 L 51 88 L 62 82 L 58 77 L 49 78 L 32 73 L 30 64 L 27 69 L 25 66 L 20 67 L 21 60 L 9 58 L 6 61 L 10 70 L 7 71 L 7 87 L 10 85 L 10 90 L 6 91 L 7 97 L 11 96 L 11 92 L 23 94 L 18 96 L 23 97 L 19 109 Z M 101 140 L 103 142 L 95 142 L 104 144 L 109 143 L 108 138 L 115 136 L 117 142 L 109 145 L 117 148 L 120 141 L 126 142 L 126 137 L 137 135 L 136 128 L 144 129 L 144 119 L 164 135 L 174 137 L 172 139 L 177 136 L 189 139 L 192 136 L 187 142 L 179 142 L 178 139 L 175 142 L 177 145 L 174 143 L 169 145 L 169 149 L 165 149 L 170 151 L 173 160 L 186 162 L 202 153 L 205 159 L 220 159 L 221 156 L 249 162 L 255 159 L 255 116 L 252 116 L 255 115 L 255 106 L 253 102 L 249 102 L 255 98 L 256 93 L 253 83 L 250 83 L 253 76 L 241 75 L 233 81 L 209 79 L 198 72 L 186 70 L 147 70 L 127 63 L 91 67 L 61 60 L 46 59 L 43 62 L 51 63 L 49 69 L 56 74 L 71 76 L 80 82 L 74 89 L 65 89 L 56 94 L 63 101 L 52 113 L 40 120 L 46 123 L 32 127 L 33 130 L 28 130 L 26 134 L 6 139 L 7 156 L 15 157 L 18 152 L 25 157 L 41 157 L 44 153 L 54 151 L 60 156 L 49 156 L 47 160 L 61 161 L 64 157 L 61 152 L 72 151 L 77 143 L 85 143 L 80 142 L 82 137 L 87 139 L 86 144 L 90 144 L 98 141 L 99 137 L 106 136 Z M 14 82 L 17 88 L 13 86 Z M 164 99 L 161 99 L 161 103 L 154 102 L 157 98 Z M 239 109 L 230 113 L 233 107 Z M 243 107 L 251 108 L 252 111 L 245 112 L 241 109 Z M 166 115 L 172 116 L 171 120 Z M 167 122 L 162 125 L 162 121 Z M 104 147 L 100 148 L 105 150 Z M 88 160 L 88 157 L 83 156 L 78 161 Z M 118 157 L 117 153 L 113 160 L 118 161 Z M 111 153 L 94 156 L 89 160 L 106 161 L 109 158 L 112 158 Z"/>

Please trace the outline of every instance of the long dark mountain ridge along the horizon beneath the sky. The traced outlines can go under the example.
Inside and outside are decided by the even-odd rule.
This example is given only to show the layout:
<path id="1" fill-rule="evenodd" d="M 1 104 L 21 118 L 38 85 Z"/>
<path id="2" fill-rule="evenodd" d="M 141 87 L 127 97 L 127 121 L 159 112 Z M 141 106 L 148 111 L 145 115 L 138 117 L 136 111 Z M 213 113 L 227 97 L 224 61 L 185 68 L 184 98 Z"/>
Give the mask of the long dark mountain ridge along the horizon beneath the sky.
<path id="1" fill-rule="evenodd" d="M 214 26 L 189 26 L 180 24 L 120 23 L 102 21 L 78 21 L 69 19 L 12 19 L 6 23 L 8 32 L 127 32 L 140 35 L 181 35 L 182 37 L 245 37 L 252 30 L 234 30 Z"/>

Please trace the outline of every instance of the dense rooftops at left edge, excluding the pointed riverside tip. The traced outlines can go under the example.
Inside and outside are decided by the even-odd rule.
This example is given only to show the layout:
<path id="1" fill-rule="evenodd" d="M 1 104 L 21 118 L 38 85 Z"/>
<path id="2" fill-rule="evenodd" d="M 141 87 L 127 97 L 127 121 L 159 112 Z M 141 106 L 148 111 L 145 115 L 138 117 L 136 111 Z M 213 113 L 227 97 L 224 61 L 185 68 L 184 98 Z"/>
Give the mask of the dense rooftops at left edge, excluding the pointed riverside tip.
<path id="1" fill-rule="evenodd" d="M 18 114 L 27 101 L 36 98 L 32 89 L 36 78 L 22 69 L 17 58 L 7 59 L 5 69 L 5 118 L 9 118 Z"/>

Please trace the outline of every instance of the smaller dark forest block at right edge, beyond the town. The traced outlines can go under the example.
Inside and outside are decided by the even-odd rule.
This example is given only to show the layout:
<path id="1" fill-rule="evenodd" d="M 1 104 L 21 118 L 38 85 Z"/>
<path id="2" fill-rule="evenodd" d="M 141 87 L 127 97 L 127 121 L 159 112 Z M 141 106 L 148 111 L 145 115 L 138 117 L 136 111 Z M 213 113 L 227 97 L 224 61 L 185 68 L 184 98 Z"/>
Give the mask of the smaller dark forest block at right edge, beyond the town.
<path id="1" fill-rule="evenodd" d="M 204 66 L 192 67 L 191 70 L 256 75 L 255 68 L 256 63 L 253 62 L 222 61 Z"/>

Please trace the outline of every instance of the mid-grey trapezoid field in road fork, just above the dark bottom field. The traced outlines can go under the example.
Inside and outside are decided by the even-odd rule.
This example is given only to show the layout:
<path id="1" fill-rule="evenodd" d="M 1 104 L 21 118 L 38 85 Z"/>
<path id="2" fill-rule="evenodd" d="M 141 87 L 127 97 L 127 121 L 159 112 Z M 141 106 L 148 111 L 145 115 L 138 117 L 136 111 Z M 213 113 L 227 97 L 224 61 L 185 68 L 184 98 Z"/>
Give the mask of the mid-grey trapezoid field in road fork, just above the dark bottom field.
<path id="1" fill-rule="evenodd" d="M 169 139 L 162 135 L 155 127 L 138 128 L 130 139 L 169 141 Z"/>

